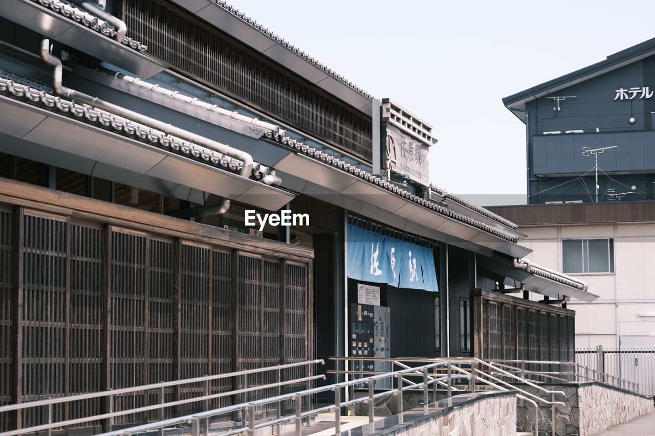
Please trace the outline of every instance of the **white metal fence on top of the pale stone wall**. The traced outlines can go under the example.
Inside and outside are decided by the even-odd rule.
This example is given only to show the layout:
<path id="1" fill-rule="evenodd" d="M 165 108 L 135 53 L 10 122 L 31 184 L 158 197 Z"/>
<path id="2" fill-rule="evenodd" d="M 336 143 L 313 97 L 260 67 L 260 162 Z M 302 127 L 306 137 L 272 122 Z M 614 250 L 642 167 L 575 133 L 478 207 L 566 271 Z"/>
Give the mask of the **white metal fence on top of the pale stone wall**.
<path id="1" fill-rule="evenodd" d="M 576 348 L 575 361 L 606 376 L 639 384 L 639 393 L 655 395 L 655 347 L 620 346 Z"/>

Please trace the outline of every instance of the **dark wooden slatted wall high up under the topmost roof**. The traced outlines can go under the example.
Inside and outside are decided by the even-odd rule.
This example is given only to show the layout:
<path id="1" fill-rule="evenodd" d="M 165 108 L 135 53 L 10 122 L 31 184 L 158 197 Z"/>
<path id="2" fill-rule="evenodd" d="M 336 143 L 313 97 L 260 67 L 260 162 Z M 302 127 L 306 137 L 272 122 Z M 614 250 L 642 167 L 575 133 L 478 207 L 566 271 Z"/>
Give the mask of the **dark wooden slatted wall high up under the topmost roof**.
<path id="1" fill-rule="evenodd" d="M 170 3 L 126 0 L 122 20 L 148 54 L 370 160 L 371 118 Z"/>

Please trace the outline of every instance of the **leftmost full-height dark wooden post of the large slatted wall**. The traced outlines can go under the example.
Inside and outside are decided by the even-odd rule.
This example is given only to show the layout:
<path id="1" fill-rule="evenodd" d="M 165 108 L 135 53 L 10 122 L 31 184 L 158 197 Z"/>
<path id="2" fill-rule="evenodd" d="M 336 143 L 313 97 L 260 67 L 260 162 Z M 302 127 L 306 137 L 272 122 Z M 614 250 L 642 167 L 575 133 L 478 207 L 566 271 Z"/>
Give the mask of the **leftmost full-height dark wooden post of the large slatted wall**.
<path id="1" fill-rule="evenodd" d="M 23 388 L 23 297 L 24 297 L 24 255 L 25 220 L 23 208 L 14 209 L 14 286 L 12 289 L 12 359 L 11 402 L 22 402 Z M 22 414 L 16 410 L 12 416 L 16 429 L 21 428 Z"/>

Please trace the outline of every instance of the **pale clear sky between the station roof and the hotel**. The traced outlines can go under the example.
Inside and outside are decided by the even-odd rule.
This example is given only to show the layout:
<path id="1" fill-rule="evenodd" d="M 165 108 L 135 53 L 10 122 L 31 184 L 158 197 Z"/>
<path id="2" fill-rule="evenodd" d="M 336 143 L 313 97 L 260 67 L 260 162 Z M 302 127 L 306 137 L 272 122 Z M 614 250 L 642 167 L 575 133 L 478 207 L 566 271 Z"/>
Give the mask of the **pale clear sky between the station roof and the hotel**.
<path id="1" fill-rule="evenodd" d="M 655 37 L 647 0 L 227 3 L 432 124 L 432 182 L 483 206 L 525 201 L 525 124 L 502 98 Z"/>

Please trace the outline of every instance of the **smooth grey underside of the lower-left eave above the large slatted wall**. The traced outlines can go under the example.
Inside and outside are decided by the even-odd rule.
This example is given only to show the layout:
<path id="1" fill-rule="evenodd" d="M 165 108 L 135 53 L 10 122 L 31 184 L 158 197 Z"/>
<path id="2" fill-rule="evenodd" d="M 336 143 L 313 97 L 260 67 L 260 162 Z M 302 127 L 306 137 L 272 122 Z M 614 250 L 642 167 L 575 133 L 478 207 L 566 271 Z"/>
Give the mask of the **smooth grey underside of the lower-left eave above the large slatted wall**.
<path id="1" fill-rule="evenodd" d="M 12 154 L 32 153 L 26 157 L 62 168 L 69 168 L 65 161 L 73 158 L 78 172 L 128 184 L 148 183 L 159 187 L 153 188 L 155 192 L 178 198 L 185 198 L 181 192 L 196 190 L 277 210 L 295 197 L 284 189 L 7 96 L 0 95 L 0 113 L 0 134 L 22 141 L 20 146 L 3 144 Z M 44 157 L 35 156 L 37 149 Z"/>

